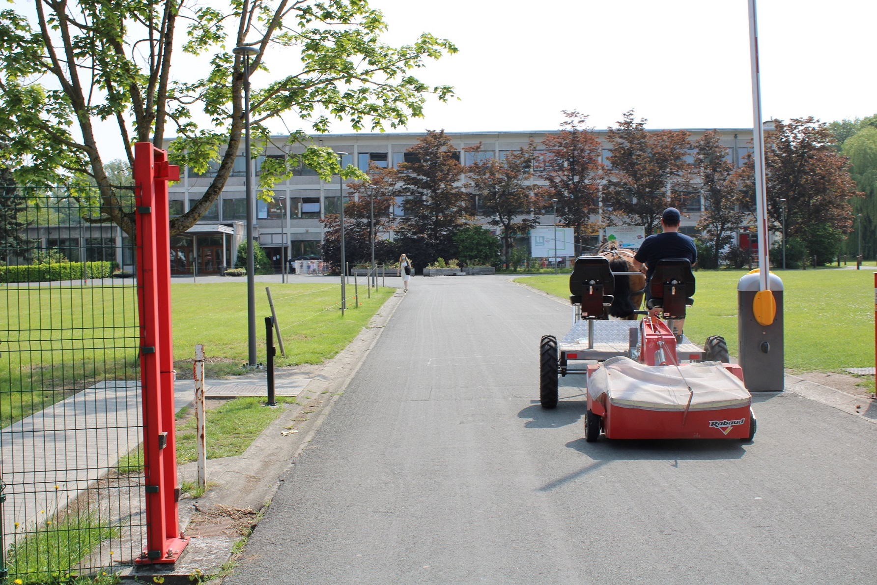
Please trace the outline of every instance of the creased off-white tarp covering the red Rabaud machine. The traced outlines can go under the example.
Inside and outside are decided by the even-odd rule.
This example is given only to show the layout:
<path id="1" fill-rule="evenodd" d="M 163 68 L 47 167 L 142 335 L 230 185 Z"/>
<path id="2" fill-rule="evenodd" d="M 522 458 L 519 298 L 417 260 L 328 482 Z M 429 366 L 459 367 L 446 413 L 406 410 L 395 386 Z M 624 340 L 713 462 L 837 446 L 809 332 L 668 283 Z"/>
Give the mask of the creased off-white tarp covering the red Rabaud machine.
<path id="1" fill-rule="evenodd" d="M 684 380 L 675 366 L 645 366 L 624 356 L 610 358 L 588 378 L 588 394 L 593 400 L 606 394 L 612 404 L 649 410 L 685 410 L 688 386 L 694 390 L 691 410 L 752 402 L 743 382 L 718 361 L 682 364 L 680 370 Z"/>

